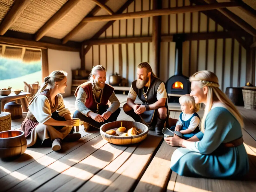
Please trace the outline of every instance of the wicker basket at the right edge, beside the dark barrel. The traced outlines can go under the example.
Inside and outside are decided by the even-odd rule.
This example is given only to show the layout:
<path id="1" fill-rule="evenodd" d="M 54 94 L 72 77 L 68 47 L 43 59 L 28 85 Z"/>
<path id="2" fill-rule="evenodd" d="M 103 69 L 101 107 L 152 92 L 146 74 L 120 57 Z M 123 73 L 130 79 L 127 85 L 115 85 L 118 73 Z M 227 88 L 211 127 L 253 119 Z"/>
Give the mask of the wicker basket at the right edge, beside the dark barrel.
<path id="1" fill-rule="evenodd" d="M 256 109 L 256 87 L 243 87 L 244 108 Z"/>

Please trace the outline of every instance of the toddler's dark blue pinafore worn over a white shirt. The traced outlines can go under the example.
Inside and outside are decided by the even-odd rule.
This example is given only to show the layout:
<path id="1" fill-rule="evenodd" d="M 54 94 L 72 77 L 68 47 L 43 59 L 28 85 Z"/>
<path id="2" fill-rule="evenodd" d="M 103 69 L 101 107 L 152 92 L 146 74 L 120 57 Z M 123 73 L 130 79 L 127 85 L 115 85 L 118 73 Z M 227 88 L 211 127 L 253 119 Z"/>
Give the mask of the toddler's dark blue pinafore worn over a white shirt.
<path id="1" fill-rule="evenodd" d="M 194 113 L 187 121 L 184 121 L 184 120 L 182 120 L 182 114 L 183 114 L 183 112 L 181 112 L 180 115 L 179 115 L 179 119 L 182 121 L 182 124 L 183 124 L 183 126 L 181 127 L 180 130 L 186 130 L 186 129 L 188 129 L 189 124 L 190 124 L 190 121 L 191 121 L 191 119 L 192 119 L 194 116 L 197 116 L 197 117 L 200 119 L 199 115 L 198 115 L 197 113 Z M 175 126 L 171 126 L 170 130 L 174 131 L 174 130 L 175 130 Z M 183 139 L 187 140 L 187 139 L 189 139 L 190 137 L 193 137 L 194 135 L 196 135 L 197 137 L 200 135 L 200 137 L 198 137 L 198 139 L 201 140 L 202 134 L 201 134 L 201 133 L 200 133 L 200 134 L 197 134 L 197 133 L 199 133 L 199 132 L 200 132 L 200 130 L 199 130 L 199 127 L 197 126 L 196 129 L 195 129 L 192 133 L 184 134 L 184 135 L 183 135 Z"/>

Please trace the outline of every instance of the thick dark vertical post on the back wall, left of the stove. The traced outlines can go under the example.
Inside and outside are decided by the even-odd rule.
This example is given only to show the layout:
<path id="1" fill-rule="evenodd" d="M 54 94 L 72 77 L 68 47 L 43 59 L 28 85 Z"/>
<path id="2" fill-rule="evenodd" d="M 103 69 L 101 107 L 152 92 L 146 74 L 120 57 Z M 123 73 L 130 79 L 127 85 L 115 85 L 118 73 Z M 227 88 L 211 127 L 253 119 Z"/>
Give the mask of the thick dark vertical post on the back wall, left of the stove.
<path id="1" fill-rule="evenodd" d="M 162 0 L 153 0 L 153 10 L 161 9 Z M 161 16 L 154 16 L 152 20 L 152 65 L 156 76 L 160 75 L 160 44 L 161 44 Z"/>

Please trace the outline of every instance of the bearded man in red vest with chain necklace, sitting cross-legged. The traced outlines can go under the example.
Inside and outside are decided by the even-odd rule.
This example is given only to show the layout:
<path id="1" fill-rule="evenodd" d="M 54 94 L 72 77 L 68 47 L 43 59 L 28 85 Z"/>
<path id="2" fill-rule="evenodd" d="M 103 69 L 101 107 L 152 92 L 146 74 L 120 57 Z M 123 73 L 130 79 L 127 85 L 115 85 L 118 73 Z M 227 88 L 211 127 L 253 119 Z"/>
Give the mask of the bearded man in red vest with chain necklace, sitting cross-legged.
<path id="1" fill-rule="evenodd" d="M 76 96 L 76 111 L 73 118 L 79 118 L 88 125 L 100 128 L 101 125 L 116 121 L 121 109 L 114 88 L 105 83 L 106 69 L 97 65 L 92 68 L 90 79 L 78 86 Z M 108 106 L 108 101 L 111 106 Z"/>

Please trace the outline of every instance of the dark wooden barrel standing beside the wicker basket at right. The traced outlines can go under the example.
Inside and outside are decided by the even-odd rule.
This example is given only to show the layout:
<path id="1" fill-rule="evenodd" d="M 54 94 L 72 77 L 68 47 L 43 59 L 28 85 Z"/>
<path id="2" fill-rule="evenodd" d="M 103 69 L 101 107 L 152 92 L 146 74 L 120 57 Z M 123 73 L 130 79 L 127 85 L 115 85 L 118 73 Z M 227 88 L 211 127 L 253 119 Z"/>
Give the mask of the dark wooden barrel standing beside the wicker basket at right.
<path id="1" fill-rule="evenodd" d="M 243 92 L 242 87 L 227 87 L 226 95 L 234 103 L 234 105 L 243 106 Z"/>

